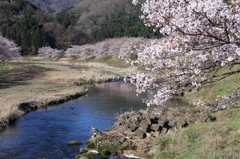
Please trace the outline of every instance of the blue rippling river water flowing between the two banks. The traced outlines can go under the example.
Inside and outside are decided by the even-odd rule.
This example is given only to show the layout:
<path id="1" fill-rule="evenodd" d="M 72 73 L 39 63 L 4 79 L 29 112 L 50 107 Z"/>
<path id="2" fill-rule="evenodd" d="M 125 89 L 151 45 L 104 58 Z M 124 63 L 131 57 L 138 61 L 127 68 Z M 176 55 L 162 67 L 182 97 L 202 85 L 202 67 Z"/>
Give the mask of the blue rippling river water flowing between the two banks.
<path id="1" fill-rule="evenodd" d="M 122 82 L 98 84 L 84 97 L 28 113 L 0 132 L 0 159 L 73 159 L 79 146 L 68 142 L 78 140 L 83 143 L 80 147 L 85 147 L 92 126 L 104 131 L 119 113 L 146 108 L 141 98 L 153 94 L 137 97 L 129 91 L 132 87 Z"/>

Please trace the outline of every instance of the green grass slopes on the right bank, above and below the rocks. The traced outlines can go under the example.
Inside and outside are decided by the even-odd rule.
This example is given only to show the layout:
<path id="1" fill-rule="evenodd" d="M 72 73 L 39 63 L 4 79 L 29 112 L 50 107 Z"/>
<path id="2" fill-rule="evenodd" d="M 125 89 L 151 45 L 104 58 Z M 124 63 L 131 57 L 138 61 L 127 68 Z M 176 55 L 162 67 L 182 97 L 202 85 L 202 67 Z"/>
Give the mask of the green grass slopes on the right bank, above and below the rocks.
<path id="1" fill-rule="evenodd" d="M 231 95 L 240 91 L 240 73 L 220 76 L 239 71 L 240 65 L 224 67 L 207 74 L 215 76 L 214 82 L 204 84 L 199 90 L 186 92 L 183 100 L 192 103 L 197 100 L 216 103 L 218 95 Z M 222 79 L 221 79 L 222 78 Z M 220 79 L 220 80 L 219 80 Z M 238 101 L 238 105 L 240 102 Z M 203 109 L 203 107 L 200 107 Z M 175 131 L 171 136 L 158 140 L 161 147 L 154 159 L 237 159 L 240 158 L 240 110 L 233 108 L 212 114 L 213 123 L 198 123 Z"/>

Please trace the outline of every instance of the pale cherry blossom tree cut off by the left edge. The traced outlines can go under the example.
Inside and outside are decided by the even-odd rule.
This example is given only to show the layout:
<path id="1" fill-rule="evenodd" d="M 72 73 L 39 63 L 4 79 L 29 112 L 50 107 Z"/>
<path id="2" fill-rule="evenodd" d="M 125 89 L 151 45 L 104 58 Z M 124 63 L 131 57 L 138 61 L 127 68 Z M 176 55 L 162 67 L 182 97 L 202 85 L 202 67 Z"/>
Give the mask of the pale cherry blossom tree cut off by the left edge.
<path id="1" fill-rule="evenodd" d="M 21 57 L 20 47 L 0 35 L 0 63 L 5 64 L 10 60 L 20 59 Z"/>

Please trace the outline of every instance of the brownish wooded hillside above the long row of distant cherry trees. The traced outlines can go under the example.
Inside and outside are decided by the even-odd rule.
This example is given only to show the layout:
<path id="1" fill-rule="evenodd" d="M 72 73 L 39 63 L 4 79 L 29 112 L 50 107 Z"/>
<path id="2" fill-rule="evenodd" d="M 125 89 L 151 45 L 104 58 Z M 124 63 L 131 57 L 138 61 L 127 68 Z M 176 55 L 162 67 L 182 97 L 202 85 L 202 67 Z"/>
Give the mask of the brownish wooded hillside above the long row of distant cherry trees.
<path id="1" fill-rule="evenodd" d="M 55 15 L 55 19 L 66 29 L 66 43 L 85 44 L 116 37 L 159 38 L 139 19 L 140 6 L 131 0 L 84 0 Z M 84 39 L 84 40 L 83 40 Z M 64 47 L 64 46 L 63 46 Z"/>

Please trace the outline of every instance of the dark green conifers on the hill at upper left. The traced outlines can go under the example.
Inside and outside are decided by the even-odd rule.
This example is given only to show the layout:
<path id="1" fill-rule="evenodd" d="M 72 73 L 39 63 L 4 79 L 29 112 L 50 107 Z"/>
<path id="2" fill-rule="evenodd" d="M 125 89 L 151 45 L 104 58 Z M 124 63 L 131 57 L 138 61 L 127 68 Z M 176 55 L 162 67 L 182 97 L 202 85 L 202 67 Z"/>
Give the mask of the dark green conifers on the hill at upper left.
<path id="1" fill-rule="evenodd" d="M 42 25 L 34 19 L 37 8 L 27 1 L 13 0 L 0 5 L 1 34 L 21 47 L 22 55 L 36 55 L 40 47 L 48 46 L 47 36 Z"/>

